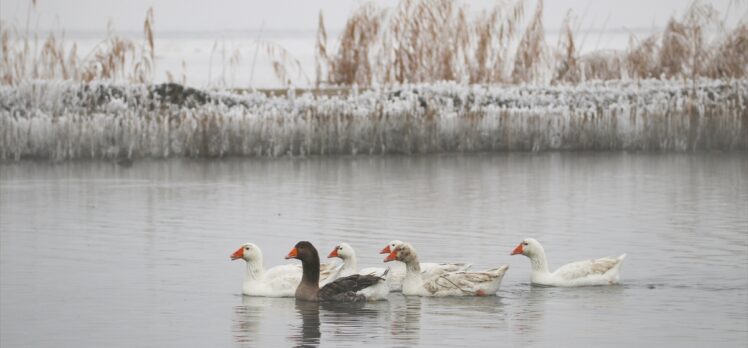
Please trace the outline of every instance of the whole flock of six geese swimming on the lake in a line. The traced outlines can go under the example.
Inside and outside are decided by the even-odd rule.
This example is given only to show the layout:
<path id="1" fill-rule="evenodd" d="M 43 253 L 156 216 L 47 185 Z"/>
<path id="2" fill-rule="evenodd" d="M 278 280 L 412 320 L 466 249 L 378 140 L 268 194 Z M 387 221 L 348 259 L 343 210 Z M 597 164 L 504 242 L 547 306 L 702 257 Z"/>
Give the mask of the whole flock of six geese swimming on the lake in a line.
<path id="1" fill-rule="evenodd" d="M 247 263 L 243 293 L 248 296 L 295 297 L 307 301 L 364 302 L 386 299 L 390 292 L 409 296 L 487 296 L 495 295 L 509 269 L 503 265 L 481 272 L 471 272 L 466 263 L 420 262 L 412 245 L 401 241 L 387 244 L 380 254 L 390 267 L 359 270 L 356 252 L 347 243 L 340 243 L 327 256 L 340 258 L 342 264 L 321 264 L 317 249 L 309 242 L 298 242 L 286 259 L 298 264 L 285 264 L 270 269 L 263 267 L 262 251 L 246 243 L 236 250 L 232 260 Z M 545 251 L 532 238 L 523 240 L 511 255 L 530 259 L 533 284 L 544 286 L 590 286 L 617 284 L 626 254 L 617 258 L 577 261 L 550 272 Z"/>

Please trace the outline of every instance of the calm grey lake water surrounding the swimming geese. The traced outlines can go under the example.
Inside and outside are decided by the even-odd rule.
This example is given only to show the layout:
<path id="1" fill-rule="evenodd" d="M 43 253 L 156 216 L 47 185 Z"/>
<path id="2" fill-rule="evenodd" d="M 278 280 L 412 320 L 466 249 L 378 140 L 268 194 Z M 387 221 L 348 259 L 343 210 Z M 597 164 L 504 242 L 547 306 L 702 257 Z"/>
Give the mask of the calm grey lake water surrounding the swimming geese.
<path id="1" fill-rule="evenodd" d="M 541 288 L 628 253 L 620 286 Z M 362 308 L 241 295 L 299 240 L 380 266 L 509 264 L 496 297 L 391 294 Z M 0 165 L 2 347 L 736 346 L 748 344 L 748 156 L 543 153 Z"/>

